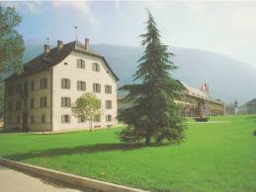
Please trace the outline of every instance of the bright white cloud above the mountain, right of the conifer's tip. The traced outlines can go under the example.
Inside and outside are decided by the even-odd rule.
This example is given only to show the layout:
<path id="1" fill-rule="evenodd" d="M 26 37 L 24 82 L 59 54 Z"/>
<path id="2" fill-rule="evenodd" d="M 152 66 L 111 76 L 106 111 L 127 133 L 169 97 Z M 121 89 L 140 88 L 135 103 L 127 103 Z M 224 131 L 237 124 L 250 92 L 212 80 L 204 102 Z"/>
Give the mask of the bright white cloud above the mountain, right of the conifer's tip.
<path id="1" fill-rule="evenodd" d="M 256 66 L 256 2 L 148 1 L 167 43 L 211 50 Z"/>

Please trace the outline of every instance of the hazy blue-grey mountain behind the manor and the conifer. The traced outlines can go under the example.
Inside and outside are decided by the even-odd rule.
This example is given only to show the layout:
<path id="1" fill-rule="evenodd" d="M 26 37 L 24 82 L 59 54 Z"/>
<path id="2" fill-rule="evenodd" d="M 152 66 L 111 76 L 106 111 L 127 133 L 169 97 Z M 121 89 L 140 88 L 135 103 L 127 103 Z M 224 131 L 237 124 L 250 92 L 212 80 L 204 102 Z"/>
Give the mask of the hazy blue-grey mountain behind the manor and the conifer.
<path id="1" fill-rule="evenodd" d="M 112 44 L 97 44 L 91 47 L 106 57 L 119 76 L 120 85 L 132 83 L 132 75 L 136 70 L 136 61 L 142 54 L 142 48 Z M 169 49 L 175 54 L 173 61 L 179 66 L 173 73 L 174 78 L 195 88 L 200 88 L 200 85 L 207 82 L 211 96 L 226 102 L 237 99 L 239 103 L 244 103 L 256 97 L 256 68 L 251 65 L 211 51 L 182 47 Z M 27 46 L 24 61 L 41 52 L 41 45 Z"/>

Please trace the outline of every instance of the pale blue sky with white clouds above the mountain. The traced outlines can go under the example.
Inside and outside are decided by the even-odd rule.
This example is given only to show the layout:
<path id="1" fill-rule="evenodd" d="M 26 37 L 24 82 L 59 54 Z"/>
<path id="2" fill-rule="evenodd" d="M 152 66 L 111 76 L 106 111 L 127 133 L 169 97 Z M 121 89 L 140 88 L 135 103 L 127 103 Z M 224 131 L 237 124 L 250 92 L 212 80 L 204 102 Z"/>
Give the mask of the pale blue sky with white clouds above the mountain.
<path id="1" fill-rule="evenodd" d="M 256 67 L 256 1 L 5 1 L 23 17 L 27 44 L 90 38 L 91 43 L 139 46 L 145 8 L 172 46 L 229 55 Z"/>

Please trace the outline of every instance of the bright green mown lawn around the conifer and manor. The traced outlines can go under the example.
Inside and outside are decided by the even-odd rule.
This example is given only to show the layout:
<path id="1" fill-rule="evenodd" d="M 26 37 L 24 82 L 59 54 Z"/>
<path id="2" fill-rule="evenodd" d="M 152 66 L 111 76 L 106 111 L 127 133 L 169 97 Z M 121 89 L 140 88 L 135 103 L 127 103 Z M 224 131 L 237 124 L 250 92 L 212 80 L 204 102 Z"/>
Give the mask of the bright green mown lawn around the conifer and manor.
<path id="1" fill-rule="evenodd" d="M 130 147 L 120 128 L 0 134 L 0 156 L 152 191 L 256 191 L 256 116 L 189 123 L 180 145 Z M 190 120 L 191 121 L 191 120 Z"/>

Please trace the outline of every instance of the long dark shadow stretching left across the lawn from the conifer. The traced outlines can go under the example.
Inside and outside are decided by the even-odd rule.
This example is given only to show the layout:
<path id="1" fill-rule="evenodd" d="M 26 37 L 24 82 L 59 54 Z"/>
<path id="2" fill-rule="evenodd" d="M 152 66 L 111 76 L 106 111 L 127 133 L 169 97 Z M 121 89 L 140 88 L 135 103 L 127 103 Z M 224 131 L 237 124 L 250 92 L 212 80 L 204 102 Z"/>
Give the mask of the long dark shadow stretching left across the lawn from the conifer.
<path id="1" fill-rule="evenodd" d="M 162 145 L 152 145 L 153 147 L 164 146 Z M 150 146 L 150 147 L 152 147 Z M 107 143 L 107 144 L 95 144 L 89 146 L 78 146 L 74 148 L 58 148 L 58 149 L 49 149 L 44 151 L 32 151 L 30 153 L 24 154 L 14 154 L 5 156 L 3 158 L 9 160 L 29 160 L 34 158 L 53 158 L 63 155 L 75 155 L 75 154 L 94 154 L 101 152 L 111 152 L 111 151 L 130 151 L 137 150 L 145 147 L 142 144 L 138 145 L 128 145 L 122 143 Z"/>

